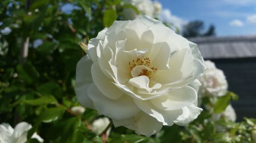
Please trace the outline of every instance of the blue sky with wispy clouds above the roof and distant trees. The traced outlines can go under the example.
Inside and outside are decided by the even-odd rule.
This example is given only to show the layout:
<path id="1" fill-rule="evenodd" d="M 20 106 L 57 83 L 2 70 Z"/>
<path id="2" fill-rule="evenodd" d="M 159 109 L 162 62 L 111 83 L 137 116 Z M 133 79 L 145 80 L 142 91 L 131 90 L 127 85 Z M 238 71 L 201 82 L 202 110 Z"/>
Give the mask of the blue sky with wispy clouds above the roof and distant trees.
<path id="1" fill-rule="evenodd" d="M 256 0 L 158 0 L 176 19 L 200 19 L 217 36 L 256 35 Z M 165 10 L 165 12 L 168 10 Z M 179 22 L 181 22 L 179 21 Z"/>

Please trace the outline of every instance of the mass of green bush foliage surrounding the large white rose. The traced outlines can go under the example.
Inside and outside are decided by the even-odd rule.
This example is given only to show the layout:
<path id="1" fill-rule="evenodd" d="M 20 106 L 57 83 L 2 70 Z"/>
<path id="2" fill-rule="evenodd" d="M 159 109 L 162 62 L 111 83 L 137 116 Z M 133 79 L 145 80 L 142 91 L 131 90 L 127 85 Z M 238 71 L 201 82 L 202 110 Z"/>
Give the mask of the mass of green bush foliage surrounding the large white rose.
<path id="1" fill-rule="evenodd" d="M 66 5 L 74 9 L 62 11 Z M 27 137 L 37 132 L 45 142 L 102 142 L 103 137 L 91 130 L 98 112 L 86 109 L 78 115 L 71 110 L 79 105 L 74 91 L 75 68 L 85 54 L 78 42 L 88 43 L 104 27 L 122 20 L 124 8 L 139 14 L 135 6 L 121 0 L 1 0 L 0 30 L 8 26 L 12 32 L 0 34 L 0 123 L 14 126 L 26 121 L 33 126 Z M 23 64 L 21 49 L 28 37 L 27 62 Z M 112 127 L 106 142 L 251 142 L 255 119 L 245 118 L 241 123 L 223 117 L 212 120 L 231 99 L 238 96 L 229 92 L 216 102 L 204 98 L 205 109 L 194 122 L 186 127 L 163 127 L 151 137 Z M 218 131 L 219 127 L 223 130 Z"/>

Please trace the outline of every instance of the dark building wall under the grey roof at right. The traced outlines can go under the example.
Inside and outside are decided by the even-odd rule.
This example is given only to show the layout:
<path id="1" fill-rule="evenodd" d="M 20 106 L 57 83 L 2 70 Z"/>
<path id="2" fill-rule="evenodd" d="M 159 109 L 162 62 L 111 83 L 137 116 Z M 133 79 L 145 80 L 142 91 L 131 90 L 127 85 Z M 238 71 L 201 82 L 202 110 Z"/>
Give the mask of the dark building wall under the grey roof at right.
<path id="1" fill-rule="evenodd" d="M 228 90 L 239 95 L 232 101 L 238 119 L 256 118 L 256 58 L 211 60 L 226 75 Z"/>

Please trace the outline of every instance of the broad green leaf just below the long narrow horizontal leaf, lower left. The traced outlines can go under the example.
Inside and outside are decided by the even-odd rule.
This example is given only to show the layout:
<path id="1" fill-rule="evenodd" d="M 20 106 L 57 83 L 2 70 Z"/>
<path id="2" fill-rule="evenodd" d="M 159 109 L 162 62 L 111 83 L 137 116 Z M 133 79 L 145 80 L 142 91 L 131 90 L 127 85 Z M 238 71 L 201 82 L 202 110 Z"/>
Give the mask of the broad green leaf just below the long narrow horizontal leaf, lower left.
<path id="1" fill-rule="evenodd" d="M 65 110 L 66 108 L 62 106 L 47 108 L 40 114 L 38 120 L 44 123 L 56 121 L 62 116 Z"/>

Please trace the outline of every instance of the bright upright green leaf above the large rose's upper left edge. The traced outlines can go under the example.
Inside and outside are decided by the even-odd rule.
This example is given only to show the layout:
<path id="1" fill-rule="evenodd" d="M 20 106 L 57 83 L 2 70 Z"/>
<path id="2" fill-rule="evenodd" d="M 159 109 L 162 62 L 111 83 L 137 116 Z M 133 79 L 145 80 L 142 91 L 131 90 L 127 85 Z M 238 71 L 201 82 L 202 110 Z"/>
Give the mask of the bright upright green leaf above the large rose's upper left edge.
<path id="1" fill-rule="evenodd" d="M 112 23 L 116 20 L 117 14 L 113 9 L 106 10 L 103 15 L 103 23 L 106 27 L 112 25 Z"/>

